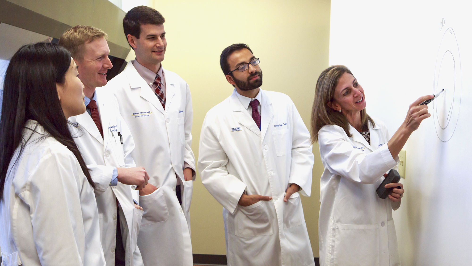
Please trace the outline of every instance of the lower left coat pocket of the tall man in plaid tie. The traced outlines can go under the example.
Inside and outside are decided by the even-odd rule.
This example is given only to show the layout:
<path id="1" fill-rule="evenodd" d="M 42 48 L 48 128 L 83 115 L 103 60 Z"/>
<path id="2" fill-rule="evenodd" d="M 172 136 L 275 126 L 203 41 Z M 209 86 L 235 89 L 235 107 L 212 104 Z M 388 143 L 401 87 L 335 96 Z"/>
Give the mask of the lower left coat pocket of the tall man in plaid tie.
<path id="1" fill-rule="evenodd" d="M 143 220 L 141 227 L 164 222 L 169 218 L 166 196 L 162 187 L 156 189 L 149 195 L 139 196 L 139 204 L 143 207 Z"/>

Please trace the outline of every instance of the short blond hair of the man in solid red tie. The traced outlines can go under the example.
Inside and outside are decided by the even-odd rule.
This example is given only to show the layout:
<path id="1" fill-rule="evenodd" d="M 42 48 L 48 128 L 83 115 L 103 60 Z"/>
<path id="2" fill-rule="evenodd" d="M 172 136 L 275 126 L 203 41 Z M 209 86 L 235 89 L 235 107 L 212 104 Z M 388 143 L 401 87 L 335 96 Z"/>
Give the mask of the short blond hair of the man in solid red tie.
<path id="1" fill-rule="evenodd" d="M 84 59 L 84 44 L 96 39 L 108 38 L 108 35 L 99 28 L 77 25 L 68 29 L 59 38 L 59 45 L 64 46 L 72 55 L 72 58 Z"/>

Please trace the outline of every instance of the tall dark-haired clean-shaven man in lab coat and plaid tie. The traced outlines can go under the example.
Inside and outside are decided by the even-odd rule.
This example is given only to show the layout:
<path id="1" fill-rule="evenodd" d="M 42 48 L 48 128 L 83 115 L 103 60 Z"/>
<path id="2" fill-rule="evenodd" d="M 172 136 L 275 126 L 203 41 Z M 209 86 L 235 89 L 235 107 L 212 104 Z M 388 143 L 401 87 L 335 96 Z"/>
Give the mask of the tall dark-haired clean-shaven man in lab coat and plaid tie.
<path id="1" fill-rule="evenodd" d="M 149 173 L 139 193 L 138 236 L 145 266 L 192 266 L 190 201 L 195 178 L 192 99 L 185 80 L 162 67 L 165 19 L 155 9 L 129 10 L 123 28 L 136 58 L 106 86 L 135 139 L 133 159 Z"/>

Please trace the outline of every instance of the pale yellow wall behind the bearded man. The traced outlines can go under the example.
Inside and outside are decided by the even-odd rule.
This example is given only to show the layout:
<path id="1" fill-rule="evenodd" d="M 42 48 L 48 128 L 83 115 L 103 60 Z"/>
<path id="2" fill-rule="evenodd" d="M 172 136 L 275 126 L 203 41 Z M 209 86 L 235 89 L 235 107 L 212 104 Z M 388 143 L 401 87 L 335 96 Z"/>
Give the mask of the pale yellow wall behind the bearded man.
<path id="1" fill-rule="evenodd" d="M 219 67 L 219 55 L 230 44 L 251 47 L 261 58 L 261 88 L 290 96 L 309 126 L 316 80 L 328 67 L 330 0 L 155 0 L 154 8 L 166 18 L 168 46 L 163 66 L 177 72 L 192 93 L 192 149 L 196 158 L 206 112 L 233 90 Z M 313 255 L 319 257 L 323 167 L 316 144 L 313 151 L 312 196 L 302 201 Z M 197 175 L 191 207 L 194 253 L 226 254 L 221 211 Z"/>

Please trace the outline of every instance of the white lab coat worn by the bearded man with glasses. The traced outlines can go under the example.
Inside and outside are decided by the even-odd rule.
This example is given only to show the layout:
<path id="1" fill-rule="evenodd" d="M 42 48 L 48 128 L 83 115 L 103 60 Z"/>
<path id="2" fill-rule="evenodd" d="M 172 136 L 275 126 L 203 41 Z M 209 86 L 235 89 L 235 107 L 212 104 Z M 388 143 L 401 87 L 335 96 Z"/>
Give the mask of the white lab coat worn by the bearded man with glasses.
<path id="1" fill-rule="evenodd" d="M 211 108 L 200 135 L 203 185 L 223 205 L 228 266 L 314 266 L 300 193 L 310 196 L 310 134 L 292 100 L 261 90 L 261 130 L 233 94 Z M 284 203 L 289 183 L 302 190 Z M 248 195 L 272 196 L 247 207 Z"/>

